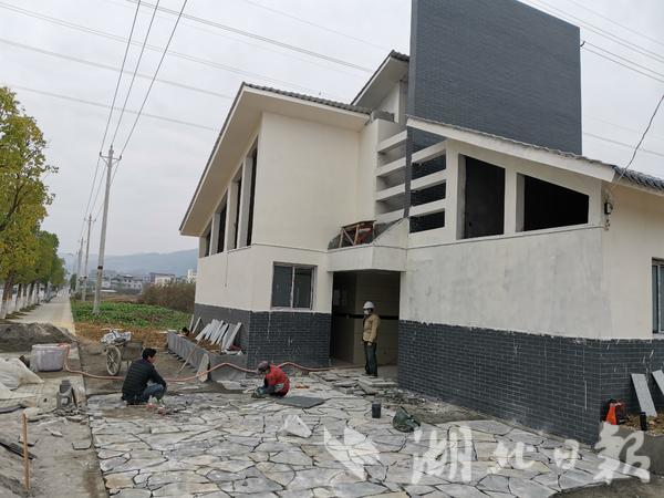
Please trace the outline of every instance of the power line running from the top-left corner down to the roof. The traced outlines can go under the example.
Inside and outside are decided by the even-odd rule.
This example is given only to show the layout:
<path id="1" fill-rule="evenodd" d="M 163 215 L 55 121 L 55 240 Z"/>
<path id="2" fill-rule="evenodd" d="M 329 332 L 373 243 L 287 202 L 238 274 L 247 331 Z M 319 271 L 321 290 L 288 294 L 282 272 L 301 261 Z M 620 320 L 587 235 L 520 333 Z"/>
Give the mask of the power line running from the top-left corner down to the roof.
<path id="1" fill-rule="evenodd" d="M 8 10 L 11 10 L 13 12 L 17 12 L 17 13 L 20 13 L 20 14 L 23 14 L 23 15 L 28 15 L 28 17 L 31 17 L 31 18 L 34 18 L 34 19 L 39 19 L 41 21 L 45 21 L 45 22 L 50 22 L 50 23 L 53 23 L 53 24 L 62 25 L 64 28 L 69 28 L 69 29 L 72 29 L 72 30 L 82 31 L 82 32 L 85 32 L 85 33 L 89 33 L 89 34 L 94 34 L 96 37 L 101 37 L 101 38 L 106 38 L 108 40 L 113 40 L 113 41 L 116 41 L 116 42 L 121 42 L 121 43 L 126 43 L 127 42 L 127 40 L 125 38 L 118 37 L 118 35 L 113 34 L 113 33 L 107 33 L 105 31 L 91 29 L 91 28 L 87 28 L 87 27 L 84 27 L 84 25 L 81 25 L 81 24 L 75 24 L 75 23 L 70 22 L 70 21 L 64 21 L 62 19 L 53 18 L 53 17 L 50 17 L 50 15 L 44 15 L 44 14 L 41 14 L 39 12 L 30 11 L 30 10 L 27 10 L 27 9 L 21 9 L 19 7 L 10 6 L 10 4 L 3 3 L 3 2 L 0 2 L 0 8 L 8 9 Z M 141 43 L 139 42 L 132 42 L 132 44 L 133 45 L 139 45 Z M 154 52 L 159 52 L 159 53 L 163 51 L 163 48 L 151 45 L 151 44 L 147 44 L 146 49 L 147 50 L 152 50 Z M 201 64 L 201 65 L 207 65 L 209 68 L 215 68 L 215 69 L 218 69 L 218 70 L 221 70 L 221 71 L 237 73 L 237 74 L 241 74 L 243 76 L 258 77 L 260 80 L 269 81 L 269 82 L 272 82 L 272 83 L 279 83 L 279 84 L 286 85 L 288 87 L 297 89 L 299 91 L 310 92 L 312 94 L 326 95 L 326 96 L 330 96 L 330 97 L 333 97 L 333 98 L 336 98 L 336 100 L 343 98 L 342 96 L 335 95 L 333 93 L 320 92 L 317 89 L 311 89 L 311 87 L 308 87 L 308 86 L 302 86 L 302 85 L 299 85 L 297 83 L 292 83 L 292 82 L 284 81 L 284 80 L 279 80 L 279 79 L 276 79 L 276 77 L 266 76 L 264 74 L 253 73 L 251 71 L 245 71 L 245 70 L 239 69 L 239 68 L 235 68 L 235 66 L 226 65 L 226 64 L 220 64 L 218 62 L 209 61 L 207 59 L 197 58 L 197 56 L 194 56 L 194 55 L 187 55 L 187 54 L 181 53 L 181 52 L 168 51 L 168 55 L 177 58 L 177 59 L 181 59 L 181 60 L 185 60 L 185 61 L 188 61 L 188 62 L 194 62 L 196 64 Z"/>

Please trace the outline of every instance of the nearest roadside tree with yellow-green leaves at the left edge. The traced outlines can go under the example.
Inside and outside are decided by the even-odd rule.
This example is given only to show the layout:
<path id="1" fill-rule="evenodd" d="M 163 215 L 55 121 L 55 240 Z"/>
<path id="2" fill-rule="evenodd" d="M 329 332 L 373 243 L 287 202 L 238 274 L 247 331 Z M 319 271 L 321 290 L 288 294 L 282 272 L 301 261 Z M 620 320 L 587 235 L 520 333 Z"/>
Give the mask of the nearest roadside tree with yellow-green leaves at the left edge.
<path id="1" fill-rule="evenodd" d="M 25 284 L 39 253 L 39 228 L 53 197 L 43 178 L 55 173 L 45 163 L 46 142 L 14 93 L 0 87 L 0 279 L 4 281 L 0 318 L 14 282 Z"/>

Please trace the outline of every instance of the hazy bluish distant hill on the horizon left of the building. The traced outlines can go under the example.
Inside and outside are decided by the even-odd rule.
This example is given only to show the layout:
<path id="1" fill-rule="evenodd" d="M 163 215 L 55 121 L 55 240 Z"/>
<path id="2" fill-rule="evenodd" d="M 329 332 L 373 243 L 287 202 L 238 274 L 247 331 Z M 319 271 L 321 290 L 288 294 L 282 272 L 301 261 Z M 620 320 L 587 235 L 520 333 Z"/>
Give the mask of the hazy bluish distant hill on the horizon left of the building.
<path id="1" fill-rule="evenodd" d="M 60 255 L 64 258 L 69 271 L 73 271 L 75 267 L 75 255 Z M 97 266 L 97 256 L 90 255 L 87 269 L 90 274 L 95 271 Z M 108 255 L 104 258 L 104 269 L 113 270 L 120 273 L 129 274 L 146 274 L 155 273 L 174 273 L 177 277 L 187 274 L 187 270 L 196 269 L 198 262 L 198 250 L 190 249 L 176 252 L 143 252 L 137 255 L 113 256 Z"/>

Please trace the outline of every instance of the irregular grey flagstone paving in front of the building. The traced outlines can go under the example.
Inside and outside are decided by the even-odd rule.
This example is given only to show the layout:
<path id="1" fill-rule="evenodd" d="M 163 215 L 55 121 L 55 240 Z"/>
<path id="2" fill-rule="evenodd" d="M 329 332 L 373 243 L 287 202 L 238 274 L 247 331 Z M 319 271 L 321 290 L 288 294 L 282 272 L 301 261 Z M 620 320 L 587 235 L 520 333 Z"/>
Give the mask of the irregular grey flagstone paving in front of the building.
<path id="1" fill-rule="evenodd" d="M 115 497 L 548 497 L 599 484 L 603 459 L 498 421 L 423 424 L 400 433 L 393 414 L 314 377 L 299 395 L 309 409 L 224 394 L 168 397 L 179 411 L 125 407 L 117 395 L 89 398 L 93 443 Z M 308 438 L 280 430 L 289 415 Z M 568 446 L 566 446 L 568 445 Z M 572 465 L 573 464 L 573 465 Z M 629 478 L 621 467 L 613 478 Z"/>

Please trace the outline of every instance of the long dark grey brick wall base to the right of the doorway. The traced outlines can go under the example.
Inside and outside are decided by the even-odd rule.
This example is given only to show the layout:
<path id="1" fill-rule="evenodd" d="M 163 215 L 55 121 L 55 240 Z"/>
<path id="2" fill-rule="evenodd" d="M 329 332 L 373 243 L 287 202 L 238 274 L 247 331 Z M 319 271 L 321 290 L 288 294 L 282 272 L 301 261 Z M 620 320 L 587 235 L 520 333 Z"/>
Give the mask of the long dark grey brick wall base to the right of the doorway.
<path id="1" fill-rule="evenodd" d="M 584 443 L 596 440 L 609 398 L 636 409 L 630 373 L 663 366 L 664 341 L 400 322 L 401 386 Z M 654 384 L 651 392 L 664 407 Z"/>

